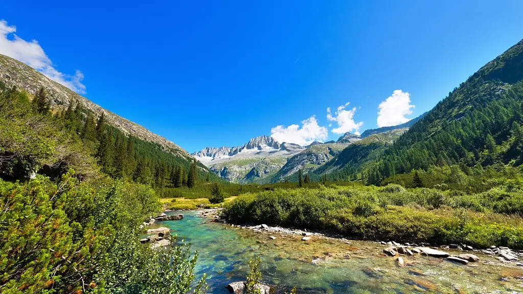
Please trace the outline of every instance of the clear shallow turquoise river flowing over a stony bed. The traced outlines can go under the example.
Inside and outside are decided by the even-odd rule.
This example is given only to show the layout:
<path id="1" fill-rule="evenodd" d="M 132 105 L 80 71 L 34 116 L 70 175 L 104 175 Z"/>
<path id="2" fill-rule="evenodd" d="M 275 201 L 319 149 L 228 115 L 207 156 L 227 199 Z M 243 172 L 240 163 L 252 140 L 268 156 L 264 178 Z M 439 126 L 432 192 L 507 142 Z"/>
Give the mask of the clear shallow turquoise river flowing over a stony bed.
<path id="1" fill-rule="evenodd" d="M 523 269 L 517 267 L 458 265 L 423 256 L 404 257 L 406 266 L 399 267 L 374 242 L 345 244 L 315 236 L 304 242 L 300 236 L 214 223 L 194 211 L 181 213 L 183 220 L 160 224 L 198 251 L 197 277 L 207 273 L 210 293 L 229 293 L 225 285 L 245 280 L 247 262 L 255 256 L 262 257 L 264 282 L 277 293 L 291 286 L 299 293 L 523 293 Z M 493 256 L 478 256 L 499 263 Z"/>

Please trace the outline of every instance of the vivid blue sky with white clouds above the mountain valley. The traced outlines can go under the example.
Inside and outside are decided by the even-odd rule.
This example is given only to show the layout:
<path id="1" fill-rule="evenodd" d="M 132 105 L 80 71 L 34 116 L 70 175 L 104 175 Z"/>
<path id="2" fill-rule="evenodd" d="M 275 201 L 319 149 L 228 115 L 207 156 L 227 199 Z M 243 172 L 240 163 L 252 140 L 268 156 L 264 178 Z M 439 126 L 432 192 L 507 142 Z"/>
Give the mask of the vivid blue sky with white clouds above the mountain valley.
<path id="1" fill-rule="evenodd" d="M 0 53 L 192 152 L 271 133 L 337 139 L 376 128 L 383 101 L 380 125 L 414 118 L 523 38 L 521 11 L 521 1 L 9 1 Z"/>

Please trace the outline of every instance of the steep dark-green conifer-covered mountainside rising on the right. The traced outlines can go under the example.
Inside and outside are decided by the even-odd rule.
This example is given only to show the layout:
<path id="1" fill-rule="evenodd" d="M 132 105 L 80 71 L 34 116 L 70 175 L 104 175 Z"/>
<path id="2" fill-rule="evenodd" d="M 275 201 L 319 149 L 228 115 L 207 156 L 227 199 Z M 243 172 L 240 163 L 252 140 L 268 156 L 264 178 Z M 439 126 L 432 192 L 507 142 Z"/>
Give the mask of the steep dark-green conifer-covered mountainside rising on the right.
<path id="1" fill-rule="evenodd" d="M 353 165 L 347 176 L 376 184 L 395 174 L 435 165 L 520 165 L 522 79 L 520 41 L 449 93 L 382 156 L 371 164 Z"/>

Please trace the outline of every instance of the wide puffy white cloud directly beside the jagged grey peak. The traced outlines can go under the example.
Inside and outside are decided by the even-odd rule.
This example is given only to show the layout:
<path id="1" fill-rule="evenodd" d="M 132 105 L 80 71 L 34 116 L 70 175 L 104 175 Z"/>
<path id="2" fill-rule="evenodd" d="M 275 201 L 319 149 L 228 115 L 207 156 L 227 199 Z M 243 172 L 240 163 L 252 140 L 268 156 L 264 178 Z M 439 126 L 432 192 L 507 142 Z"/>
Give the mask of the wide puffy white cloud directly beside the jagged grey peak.
<path id="1" fill-rule="evenodd" d="M 327 139 L 327 128 L 320 127 L 314 116 L 303 120 L 301 123 L 301 128 L 298 125 L 276 126 L 270 129 L 270 137 L 280 143 L 287 142 L 302 146 Z"/>

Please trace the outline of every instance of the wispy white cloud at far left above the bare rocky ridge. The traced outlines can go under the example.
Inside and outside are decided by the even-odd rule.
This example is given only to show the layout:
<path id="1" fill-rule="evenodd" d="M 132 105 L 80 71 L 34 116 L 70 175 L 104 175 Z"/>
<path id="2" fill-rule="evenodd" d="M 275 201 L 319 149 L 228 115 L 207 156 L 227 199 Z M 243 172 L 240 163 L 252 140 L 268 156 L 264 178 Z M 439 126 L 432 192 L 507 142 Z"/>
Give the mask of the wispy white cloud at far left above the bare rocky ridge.
<path id="1" fill-rule="evenodd" d="M 0 54 L 24 62 L 51 80 L 76 93 L 85 94 L 85 85 L 82 84 L 84 75 L 80 71 L 77 70 L 72 76 L 59 72 L 36 40 L 28 42 L 15 32 L 15 26 L 9 26 L 7 21 L 0 20 Z"/>

